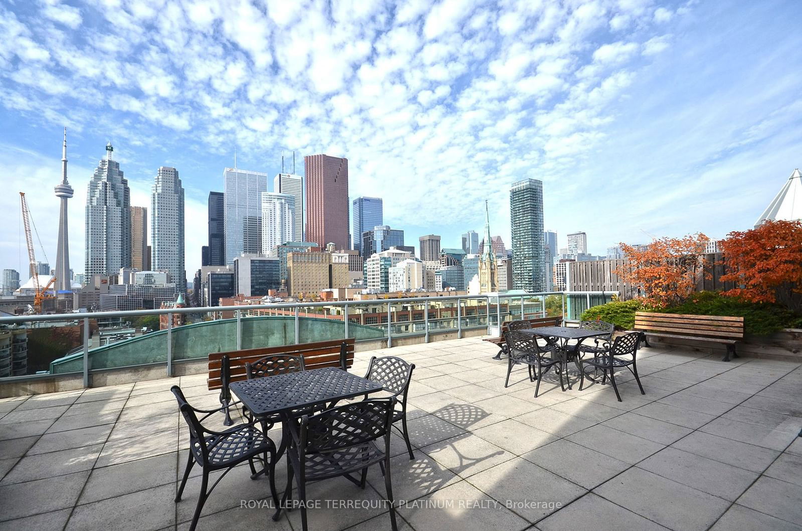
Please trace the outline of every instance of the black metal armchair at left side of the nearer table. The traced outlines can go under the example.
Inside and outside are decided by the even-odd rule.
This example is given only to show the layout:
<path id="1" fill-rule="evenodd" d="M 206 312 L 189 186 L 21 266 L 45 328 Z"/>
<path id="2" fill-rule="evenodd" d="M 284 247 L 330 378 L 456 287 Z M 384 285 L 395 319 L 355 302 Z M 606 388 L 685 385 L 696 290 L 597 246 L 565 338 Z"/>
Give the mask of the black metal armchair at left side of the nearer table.
<path id="1" fill-rule="evenodd" d="M 198 503 L 195 508 L 195 516 L 192 517 L 192 525 L 189 526 L 190 531 L 194 531 L 198 523 L 198 518 L 201 517 L 201 510 L 220 480 L 225 477 L 229 471 L 241 464 L 248 461 L 252 478 L 256 476 L 256 468 L 253 466 L 253 460 L 261 456 L 264 459 L 265 473 L 268 474 L 270 480 L 270 494 L 273 496 L 273 502 L 278 504 L 278 496 L 276 494 L 275 484 L 275 462 L 276 462 L 276 445 L 264 433 L 262 433 L 253 423 L 238 424 L 233 428 L 229 428 L 222 432 L 217 432 L 205 428 L 201 424 L 202 420 L 209 418 L 209 416 L 224 411 L 226 406 L 219 407 L 212 410 L 203 410 L 192 407 L 187 403 L 184 398 L 184 393 L 181 388 L 174 385 L 170 388 L 173 395 L 176 395 L 178 407 L 181 410 L 181 415 L 189 428 L 189 451 L 187 468 L 184 470 L 184 478 L 181 480 L 180 487 L 176 493 L 176 503 L 181 501 L 181 494 L 184 492 L 184 486 L 187 484 L 189 472 L 192 467 L 197 463 L 203 469 L 203 476 L 201 478 L 201 494 L 198 497 Z M 229 403 L 232 406 L 236 403 Z M 204 413 L 199 420 L 197 413 Z M 269 467 L 269 471 L 267 470 Z M 215 470 L 225 469 L 225 472 L 209 486 L 209 472 Z"/>

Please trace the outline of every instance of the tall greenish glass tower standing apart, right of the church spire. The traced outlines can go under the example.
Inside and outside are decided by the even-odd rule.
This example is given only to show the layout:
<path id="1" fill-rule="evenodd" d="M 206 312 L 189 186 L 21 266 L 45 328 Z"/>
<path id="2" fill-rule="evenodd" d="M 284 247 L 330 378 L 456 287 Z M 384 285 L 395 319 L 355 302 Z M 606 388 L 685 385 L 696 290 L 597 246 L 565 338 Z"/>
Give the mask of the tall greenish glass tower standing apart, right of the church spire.
<path id="1" fill-rule="evenodd" d="M 509 207 L 513 287 L 543 291 L 543 183 L 536 179 L 513 183 Z"/>

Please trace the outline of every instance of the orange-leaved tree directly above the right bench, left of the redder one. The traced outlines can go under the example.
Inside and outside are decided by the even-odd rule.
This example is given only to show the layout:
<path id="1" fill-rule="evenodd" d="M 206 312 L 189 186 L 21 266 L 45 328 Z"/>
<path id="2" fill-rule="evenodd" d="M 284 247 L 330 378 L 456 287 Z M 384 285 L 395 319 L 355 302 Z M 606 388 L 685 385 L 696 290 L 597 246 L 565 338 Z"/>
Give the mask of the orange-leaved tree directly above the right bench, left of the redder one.
<path id="1" fill-rule="evenodd" d="M 644 306 L 659 310 L 680 304 L 694 292 L 704 274 L 705 245 L 702 233 L 683 238 L 659 238 L 644 247 L 621 244 L 628 263 L 615 274 L 639 287 Z"/>

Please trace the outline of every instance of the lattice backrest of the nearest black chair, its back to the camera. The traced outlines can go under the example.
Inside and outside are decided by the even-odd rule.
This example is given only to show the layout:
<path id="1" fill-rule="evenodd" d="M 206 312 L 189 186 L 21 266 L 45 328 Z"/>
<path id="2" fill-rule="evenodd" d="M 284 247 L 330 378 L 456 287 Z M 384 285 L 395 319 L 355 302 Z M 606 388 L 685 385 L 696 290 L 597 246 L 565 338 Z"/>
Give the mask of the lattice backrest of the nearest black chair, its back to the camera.
<path id="1" fill-rule="evenodd" d="M 304 416 L 301 448 L 305 453 L 333 452 L 389 436 L 394 407 L 395 398 L 391 397 L 346 403 Z"/>

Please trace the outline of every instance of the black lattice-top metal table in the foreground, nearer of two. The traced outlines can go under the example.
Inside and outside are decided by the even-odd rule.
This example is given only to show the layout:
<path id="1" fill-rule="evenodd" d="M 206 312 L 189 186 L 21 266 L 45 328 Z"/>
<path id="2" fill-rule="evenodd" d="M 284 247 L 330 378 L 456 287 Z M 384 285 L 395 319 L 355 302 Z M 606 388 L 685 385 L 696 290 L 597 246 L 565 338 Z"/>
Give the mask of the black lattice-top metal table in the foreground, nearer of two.
<path id="1" fill-rule="evenodd" d="M 255 417 L 282 416 L 282 443 L 276 452 L 278 460 L 290 440 L 287 424 L 294 415 L 298 415 L 298 411 L 310 411 L 319 404 L 333 404 L 338 400 L 368 395 L 382 391 L 383 387 L 337 367 L 323 367 L 234 382 L 229 389 Z M 276 508 L 273 520 L 277 520 L 281 509 Z"/>

